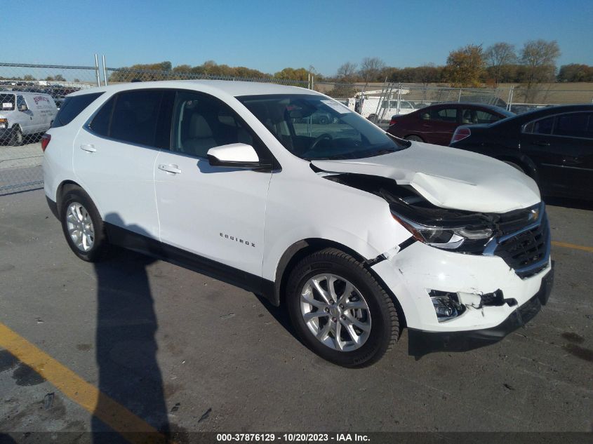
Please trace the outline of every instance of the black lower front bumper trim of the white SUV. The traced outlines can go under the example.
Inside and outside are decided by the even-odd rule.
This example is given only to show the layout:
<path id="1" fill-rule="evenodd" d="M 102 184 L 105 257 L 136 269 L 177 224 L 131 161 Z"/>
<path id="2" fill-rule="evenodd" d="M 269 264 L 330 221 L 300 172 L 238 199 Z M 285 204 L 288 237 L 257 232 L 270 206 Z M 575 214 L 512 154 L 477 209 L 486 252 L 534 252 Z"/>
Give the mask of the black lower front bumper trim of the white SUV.
<path id="1" fill-rule="evenodd" d="M 542 305 L 547 304 L 553 284 L 554 269 L 542 279 L 540 290 L 530 300 L 493 328 L 460 332 L 428 332 L 408 328 L 408 354 L 418 359 L 434 351 L 468 351 L 495 344 L 538 314 Z"/>

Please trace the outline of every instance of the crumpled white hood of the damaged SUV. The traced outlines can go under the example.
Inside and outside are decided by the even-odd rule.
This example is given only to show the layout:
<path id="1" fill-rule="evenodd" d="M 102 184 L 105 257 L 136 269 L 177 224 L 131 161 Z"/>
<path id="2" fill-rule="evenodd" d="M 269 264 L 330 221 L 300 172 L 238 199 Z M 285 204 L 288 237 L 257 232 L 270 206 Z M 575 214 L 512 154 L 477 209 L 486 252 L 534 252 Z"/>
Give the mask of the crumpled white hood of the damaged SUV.
<path id="1" fill-rule="evenodd" d="M 399 152 L 367 159 L 312 161 L 331 173 L 388 177 L 410 185 L 441 208 L 507 213 L 540 202 L 531 177 L 488 156 L 450 147 L 412 142 Z"/>

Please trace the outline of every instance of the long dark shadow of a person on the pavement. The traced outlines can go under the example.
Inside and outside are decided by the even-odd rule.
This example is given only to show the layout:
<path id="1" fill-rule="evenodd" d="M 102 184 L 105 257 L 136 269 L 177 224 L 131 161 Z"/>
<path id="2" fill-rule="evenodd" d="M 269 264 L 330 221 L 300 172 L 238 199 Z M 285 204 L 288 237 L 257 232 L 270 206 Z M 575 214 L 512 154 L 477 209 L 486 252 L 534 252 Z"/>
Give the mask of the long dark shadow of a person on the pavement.
<path id="1" fill-rule="evenodd" d="M 163 378 L 156 361 L 158 321 L 146 270 L 154 260 L 128 250 L 115 253 L 112 259 L 95 264 L 98 388 L 168 436 Z M 93 442 L 126 442 L 116 433 L 108 433 L 112 430 L 98 419 L 109 415 L 108 409 L 102 400 L 95 408 Z"/>

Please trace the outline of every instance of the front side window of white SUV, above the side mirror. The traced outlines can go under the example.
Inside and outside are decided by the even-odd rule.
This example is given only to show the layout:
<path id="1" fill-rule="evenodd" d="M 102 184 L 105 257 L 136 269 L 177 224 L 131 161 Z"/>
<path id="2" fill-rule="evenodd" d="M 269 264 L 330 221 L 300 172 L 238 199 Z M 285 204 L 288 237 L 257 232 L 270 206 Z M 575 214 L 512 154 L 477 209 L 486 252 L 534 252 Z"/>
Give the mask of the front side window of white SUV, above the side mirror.
<path id="1" fill-rule="evenodd" d="M 232 143 L 254 146 L 255 140 L 228 105 L 208 95 L 178 92 L 173 107 L 173 151 L 206 158 L 208 149 Z"/>

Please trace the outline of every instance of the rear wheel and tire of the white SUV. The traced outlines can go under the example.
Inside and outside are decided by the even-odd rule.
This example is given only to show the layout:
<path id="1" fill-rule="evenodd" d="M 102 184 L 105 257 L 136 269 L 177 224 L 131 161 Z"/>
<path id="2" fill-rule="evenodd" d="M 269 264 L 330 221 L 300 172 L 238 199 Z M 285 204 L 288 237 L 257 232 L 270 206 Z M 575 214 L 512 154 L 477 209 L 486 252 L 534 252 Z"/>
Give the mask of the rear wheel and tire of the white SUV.
<path id="1" fill-rule="evenodd" d="M 109 243 L 103 220 L 82 189 L 66 191 L 60 207 L 60 222 L 70 249 L 81 260 L 100 262 L 107 256 Z"/>

